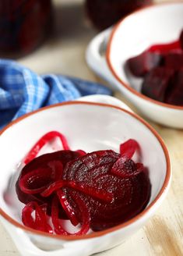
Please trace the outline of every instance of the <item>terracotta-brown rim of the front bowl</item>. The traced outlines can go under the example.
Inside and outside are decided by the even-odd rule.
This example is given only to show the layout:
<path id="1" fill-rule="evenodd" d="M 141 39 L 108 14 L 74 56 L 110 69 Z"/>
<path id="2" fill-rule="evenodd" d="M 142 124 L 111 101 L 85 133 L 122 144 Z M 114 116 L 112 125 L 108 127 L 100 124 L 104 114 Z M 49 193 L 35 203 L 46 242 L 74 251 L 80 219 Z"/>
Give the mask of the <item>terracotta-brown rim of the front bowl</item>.
<path id="1" fill-rule="evenodd" d="M 153 135 L 157 138 L 158 142 L 160 143 L 160 146 L 161 146 L 162 150 L 164 151 L 164 156 L 165 156 L 165 160 L 166 160 L 166 164 L 167 164 L 167 170 L 166 170 L 166 176 L 164 178 L 164 184 L 161 187 L 159 193 L 157 194 L 157 197 L 155 197 L 155 199 L 148 205 L 147 208 L 145 208 L 138 215 L 135 215 L 135 217 L 133 217 L 132 219 L 129 219 L 127 222 L 123 222 L 123 223 L 119 224 L 118 226 L 114 226 L 114 227 L 111 227 L 109 229 L 105 229 L 103 231 L 97 231 L 97 232 L 93 232 L 93 233 L 86 234 L 86 235 L 81 235 L 81 236 L 64 236 L 64 235 L 57 235 L 57 234 L 53 235 L 53 234 L 45 233 L 43 231 L 39 231 L 39 230 L 29 228 L 29 227 L 24 226 L 23 224 L 17 222 L 10 215 L 8 215 L 6 212 L 4 212 L 2 210 L 2 208 L 0 208 L 0 215 L 2 215 L 2 217 L 6 221 L 10 222 L 13 226 L 16 226 L 16 228 L 23 229 L 24 231 L 26 231 L 28 233 L 31 233 L 31 234 L 34 234 L 34 235 L 47 236 L 47 237 L 50 237 L 52 239 L 58 239 L 58 240 L 83 240 L 83 239 L 89 239 L 89 238 L 95 238 L 95 237 L 103 236 L 103 235 L 106 235 L 108 233 L 112 233 L 112 232 L 114 232 L 118 229 L 129 226 L 132 223 L 134 223 L 135 221 L 144 217 L 144 215 L 146 215 L 148 212 L 150 212 L 150 210 L 153 208 L 154 204 L 156 204 L 157 201 L 159 201 L 160 198 L 164 195 L 164 193 L 167 191 L 167 187 L 169 187 L 168 185 L 171 182 L 171 161 L 170 161 L 170 157 L 169 157 L 169 154 L 168 154 L 168 151 L 167 151 L 167 147 L 165 146 L 164 141 L 162 140 L 160 135 L 157 133 L 157 131 L 152 126 L 150 126 L 149 123 L 147 123 L 140 116 L 136 115 L 134 112 L 130 112 L 130 111 L 124 109 L 124 108 L 120 108 L 118 106 L 114 106 L 114 105 L 110 105 L 110 104 L 104 104 L 104 103 L 96 103 L 96 102 L 89 102 L 89 101 L 67 101 L 67 102 L 62 102 L 62 103 L 58 103 L 58 104 L 55 104 L 55 105 L 50 105 L 50 106 L 47 106 L 47 107 L 44 107 L 44 108 L 40 108 L 40 109 L 38 109 L 34 112 L 30 112 L 30 113 L 27 113 L 24 116 L 19 117 L 18 119 L 12 121 L 12 123 L 9 123 L 9 125 L 5 126 L 2 130 L 0 130 L 0 137 L 2 136 L 3 133 L 5 133 L 6 130 L 8 130 L 9 128 L 12 128 L 12 126 L 15 126 L 17 123 L 21 122 L 23 119 L 28 118 L 29 116 L 36 115 L 38 112 L 44 112 L 45 110 L 48 110 L 49 108 L 57 108 L 57 107 L 65 106 L 65 105 L 90 105 L 90 106 L 93 105 L 93 106 L 99 106 L 99 107 L 102 106 L 104 108 L 114 108 L 114 109 L 117 109 L 118 111 L 127 113 L 129 116 L 132 116 L 132 118 L 135 118 L 140 123 L 143 123 L 143 125 L 146 126 L 146 128 L 148 130 L 150 130 L 151 133 L 153 133 Z"/>

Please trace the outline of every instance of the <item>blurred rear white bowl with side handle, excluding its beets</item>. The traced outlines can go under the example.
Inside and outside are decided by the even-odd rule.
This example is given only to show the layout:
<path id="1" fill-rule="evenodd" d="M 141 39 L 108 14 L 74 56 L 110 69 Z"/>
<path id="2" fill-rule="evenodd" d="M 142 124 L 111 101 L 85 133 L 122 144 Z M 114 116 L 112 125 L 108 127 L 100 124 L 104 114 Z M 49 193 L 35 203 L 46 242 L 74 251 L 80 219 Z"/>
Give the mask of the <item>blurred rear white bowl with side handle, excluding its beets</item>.
<path id="1" fill-rule="evenodd" d="M 125 72 L 127 59 L 153 44 L 177 40 L 182 29 L 183 2 L 150 5 L 126 16 L 112 30 L 97 35 L 87 48 L 86 61 L 95 73 L 118 88 L 143 116 L 165 126 L 183 128 L 183 106 L 146 97 L 140 93 L 140 80 Z"/>

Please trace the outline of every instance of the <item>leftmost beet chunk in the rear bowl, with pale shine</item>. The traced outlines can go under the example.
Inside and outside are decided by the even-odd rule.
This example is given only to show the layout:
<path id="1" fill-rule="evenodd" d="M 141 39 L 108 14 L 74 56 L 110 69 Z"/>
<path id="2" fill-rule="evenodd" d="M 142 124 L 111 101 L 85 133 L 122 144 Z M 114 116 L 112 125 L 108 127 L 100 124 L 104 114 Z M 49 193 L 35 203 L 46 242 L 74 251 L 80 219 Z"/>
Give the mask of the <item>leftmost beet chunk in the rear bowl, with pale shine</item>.
<path id="1" fill-rule="evenodd" d="M 157 53 L 143 52 L 138 56 L 128 59 L 128 69 L 134 76 L 144 76 L 160 64 L 162 57 Z"/>

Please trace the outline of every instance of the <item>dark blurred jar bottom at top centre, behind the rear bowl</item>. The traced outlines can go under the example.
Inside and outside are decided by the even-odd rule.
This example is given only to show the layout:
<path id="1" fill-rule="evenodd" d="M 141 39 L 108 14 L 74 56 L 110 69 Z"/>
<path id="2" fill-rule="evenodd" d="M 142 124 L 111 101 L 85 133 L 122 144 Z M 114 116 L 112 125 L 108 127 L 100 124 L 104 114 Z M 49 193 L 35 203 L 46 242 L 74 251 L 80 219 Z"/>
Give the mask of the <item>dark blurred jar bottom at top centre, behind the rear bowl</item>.
<path id="1" fill-rule="evenodd" d="M 104 30 L 128 13 L 152 2 L 153 0 L 86 0 L 86 12 L 93 25 Z"/>

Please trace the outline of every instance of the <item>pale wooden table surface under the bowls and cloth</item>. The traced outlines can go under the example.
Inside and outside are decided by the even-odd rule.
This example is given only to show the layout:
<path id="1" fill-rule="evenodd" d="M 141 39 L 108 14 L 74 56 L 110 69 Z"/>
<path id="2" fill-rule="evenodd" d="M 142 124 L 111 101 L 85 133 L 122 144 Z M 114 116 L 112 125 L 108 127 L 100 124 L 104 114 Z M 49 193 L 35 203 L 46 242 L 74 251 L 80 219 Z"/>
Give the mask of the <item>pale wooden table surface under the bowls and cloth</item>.
<path id="1" fill-rule="evenodd" d="M 62 73 L 98 80 L 85 62 L 86 46 L 97 31 L 86 21 L 83 1 L 55 0 L 54 3 L 54 37 L 31 55 L 18 61 L 37 73 Z M 115 95 L 121 98 L 120 94 Z M 125 243 L 96 256 L 183 255 L 183 130 L 173 130 L 155 123 L 151 125 L 160 133 L 171 156 L 171 189 L 156 215 L 146 223 L 146 226 L 139 229 Z M 1 223 L 0 256 L 19 256 Z"/>

